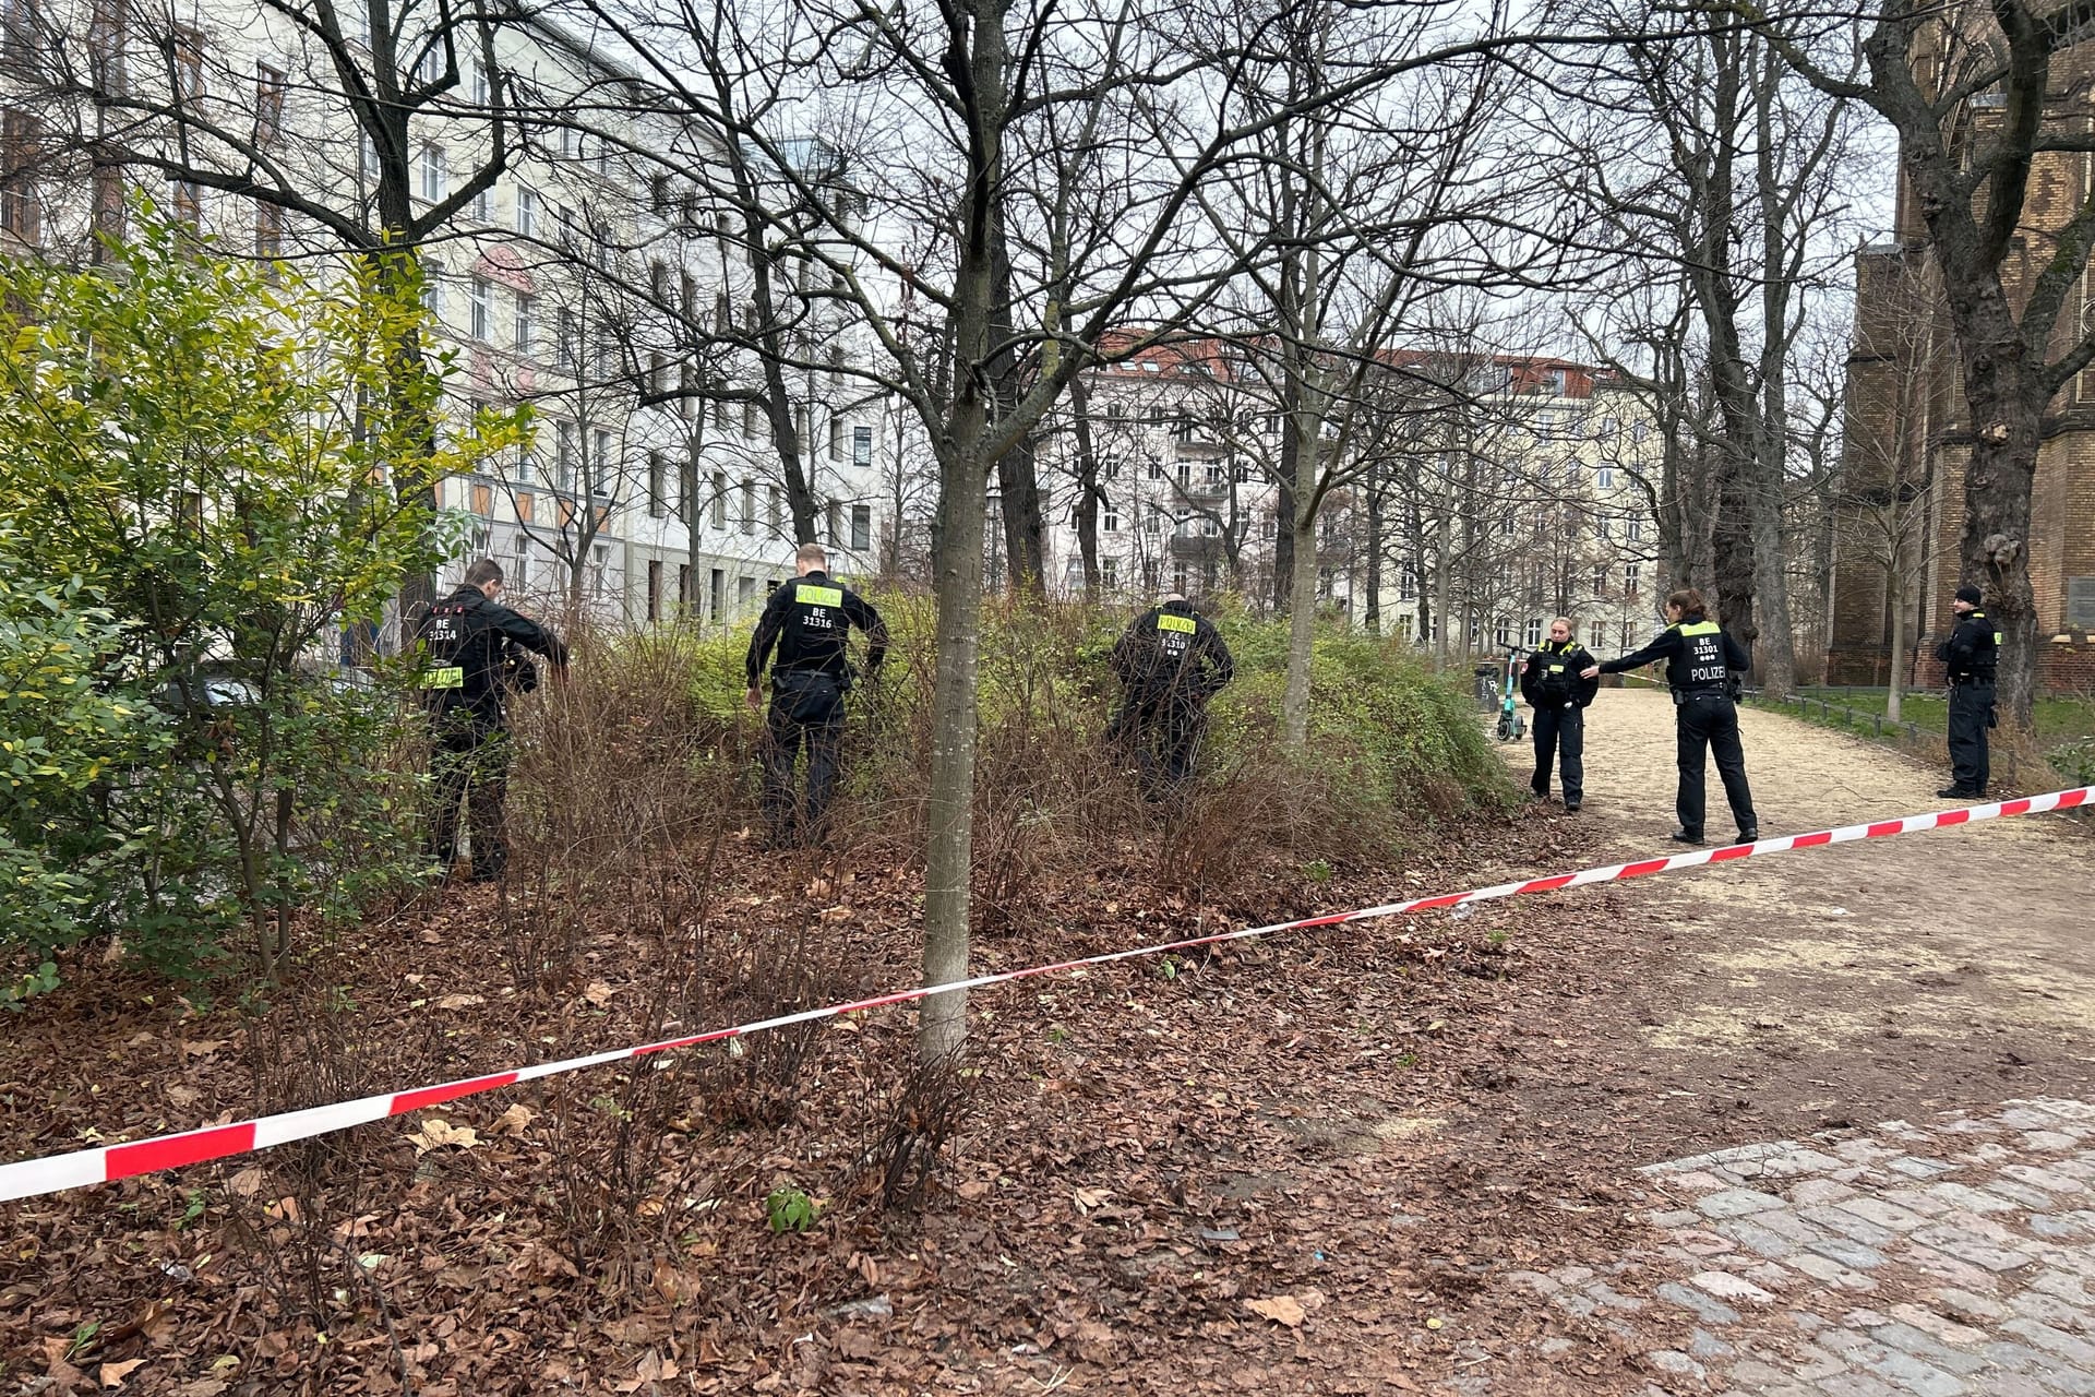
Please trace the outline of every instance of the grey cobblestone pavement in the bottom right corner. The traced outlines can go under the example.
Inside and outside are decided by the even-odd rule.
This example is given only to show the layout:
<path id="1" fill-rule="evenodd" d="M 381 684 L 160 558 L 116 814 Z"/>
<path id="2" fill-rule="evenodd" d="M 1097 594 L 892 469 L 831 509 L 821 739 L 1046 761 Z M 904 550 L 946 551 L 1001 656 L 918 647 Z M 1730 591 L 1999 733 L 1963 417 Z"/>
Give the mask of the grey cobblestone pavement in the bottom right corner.
<path id="1" fill-rule="evenodd" d="M 1517 1280 L 1636 1347 L 1651 1395 L 2095 1395 L 2095 1106 L 2009 1102 L 1642 1173 L 1676 1202 L 1649 1215 L 1653 1248 Z"/>

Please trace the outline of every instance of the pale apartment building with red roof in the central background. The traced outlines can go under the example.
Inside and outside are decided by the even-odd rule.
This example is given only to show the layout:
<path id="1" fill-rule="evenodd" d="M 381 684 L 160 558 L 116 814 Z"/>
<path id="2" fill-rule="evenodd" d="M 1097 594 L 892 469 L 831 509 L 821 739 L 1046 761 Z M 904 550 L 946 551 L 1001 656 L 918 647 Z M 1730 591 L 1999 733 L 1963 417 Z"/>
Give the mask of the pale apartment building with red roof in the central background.
<path id="1" fill-rule="evenodd" d="M 1559 614 L 1596 649 L 1640 639 L 1663 584 L 1649 415 L 1584 364 L 1473 358 L 1458 400 L 1412 413 L 1404 448 L 1343 473 L 1328 496 L 1320 605 L 1366 624 L 1374 582 L 1383 635 L 1433 645 L 1448 612 L 1452 653 L 1538 645 Z M 1098 369 L 1085 387 L 1102 591 L 1272 597 L 1280 423 L 1240 356 L 1167 343 Z M 1062 593 L 1085 584 L 1068 417 L 1043 452 L 1048 572 Z"/>

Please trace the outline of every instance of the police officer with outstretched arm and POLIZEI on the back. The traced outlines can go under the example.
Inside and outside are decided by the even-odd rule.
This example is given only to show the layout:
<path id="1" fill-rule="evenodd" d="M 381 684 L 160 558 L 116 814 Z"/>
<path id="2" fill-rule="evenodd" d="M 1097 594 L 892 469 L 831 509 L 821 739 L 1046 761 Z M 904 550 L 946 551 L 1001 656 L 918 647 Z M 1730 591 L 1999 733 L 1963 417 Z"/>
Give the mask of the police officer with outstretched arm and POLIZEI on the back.
<path id="1" fill-rule="evenodd" d="M 1584 670 L 1582 679 L 1622 674 L 1653 660 L 1666 660 L 1666 685 L 1674 691 L 1674 748 L 1680 758 L 1680 790 L 1674 806 L 1682 844 L 1703 842 L 1703 779 L 1705 754 L 1716 754 L 1716 771 L 1724 779 L 1724 800 L 1739 821 L 1739 842 L 1760 838 L 1754 815 L 1754 792 L 1745 785 L 1745 750 L 1739 746 L 1739 708 L 1733 704 L 1733 672 L 1745 672 L 1754 660 L 1737 639 L 1724 633 L 1703 605 L 1701 593 L 1682 589 L 1666 599 L 1666 620 L 1672 624 L 1651 645 L 1636 653 Z"/>

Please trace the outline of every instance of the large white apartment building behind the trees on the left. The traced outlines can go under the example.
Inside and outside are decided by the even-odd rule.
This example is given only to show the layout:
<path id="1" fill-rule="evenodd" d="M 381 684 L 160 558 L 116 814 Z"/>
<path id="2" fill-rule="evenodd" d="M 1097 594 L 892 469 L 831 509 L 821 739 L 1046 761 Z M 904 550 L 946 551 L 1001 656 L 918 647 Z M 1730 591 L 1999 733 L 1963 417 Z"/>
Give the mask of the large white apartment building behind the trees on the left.
<path id="1" fill-rule="evenodd" d="M 362 6 L 323 8 L 344 50 L 369 63 Z M 86 48 L 67 57 L 59 34 Z M 744 616 L 792 576 L 794 522 L 771 431 L 777 394 L 748 348 L 758 316 L 742 222 L 679 178 L 702 159 L 696 132 L 620 111 L 624 73 L 591 36 L 528 19 L 463 38 L 492 50 L 436 44 L 409 75 L 436 82 L 455 63 L 457 77 L 406 128 L 415 216 L 471 191 L 492 163 L 494 107 L 507 151 L 499 176 L 421 239 L 432 350 L 453 360 L 457 421 L 530 404 L 536 436 L 484 473 L 442 482 L 463 542 L 440 584 L 490 555 L 538 605 L 635 624 Z M 377 153 L 339 63 L 281 13 L 207 0 L 170 27 L 122 0 L 82 0 L 71 15 L 38 10 L 29 31 L 8 25 L 6 40 L 0 245 L 13 256 L 92 256 L 88 230 L 119 230 L 130 189 L 235 256 L 346 247 L 327 218 L 239 193 L 226 176 L 243 161 L 264 161 L 318 212 L 373 226 Z M 111 132 L 109 105 L 80 96 L 96 84 L 168 111 L 126 111 Z M 214 142 L 212 130 L 233 134 Z M 176 157 L 212 178 L 170 180 Z M 892 406 L 851 373 L 863 346 L 836 302 L 794 295 L 804 272 L 794 287 L 794 268 L 779 270 L 773 320 L 792 318 L 777 335 L 784 411 L 815 528 L 836 572 L 863 574 L 890 528 Z"/>

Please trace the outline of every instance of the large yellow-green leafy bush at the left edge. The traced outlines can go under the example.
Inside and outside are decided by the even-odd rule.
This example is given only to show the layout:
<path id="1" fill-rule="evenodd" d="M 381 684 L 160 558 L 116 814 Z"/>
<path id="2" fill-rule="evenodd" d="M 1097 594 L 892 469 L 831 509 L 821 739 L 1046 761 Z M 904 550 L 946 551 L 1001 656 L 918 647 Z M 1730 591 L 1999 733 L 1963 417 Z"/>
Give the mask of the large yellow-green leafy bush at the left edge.
<path id="1" fill-rule="evenodd" d="M 105 266 L 0 264 L 0 710 L 19 741 L 0 953 L 94 932 L 168 968 L 233 930 L 270 970 L 295 913 L 413 867 L 402 687 L 346 672 L 446 549 L 432 482 L 522 440 L 438 444 L 446 362 L 411 260 L 302 274 L 140 209 Z"/>

